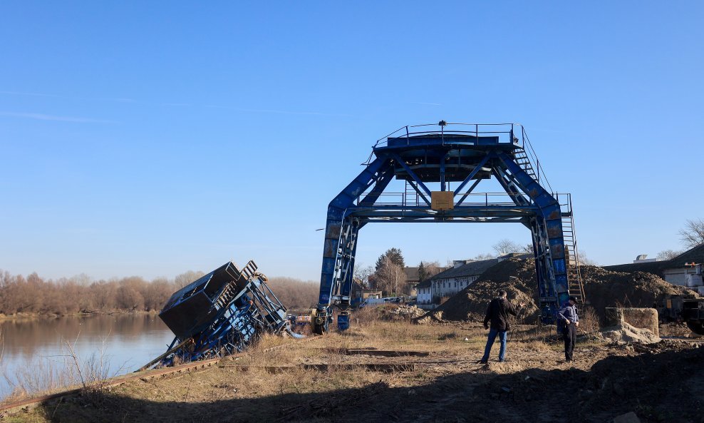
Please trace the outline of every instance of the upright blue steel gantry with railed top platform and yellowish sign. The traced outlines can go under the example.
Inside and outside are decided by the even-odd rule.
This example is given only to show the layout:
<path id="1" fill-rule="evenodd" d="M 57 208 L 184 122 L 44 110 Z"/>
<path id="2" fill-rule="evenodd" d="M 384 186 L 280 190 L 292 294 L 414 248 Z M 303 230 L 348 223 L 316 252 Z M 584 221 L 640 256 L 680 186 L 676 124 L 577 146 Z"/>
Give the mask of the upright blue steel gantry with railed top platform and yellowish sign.
<path id="1" fill-rule="evenodd" d="M 377 141 L 363 165 L 328 206 L 314 332 L 328 330 L 333 307 L 338 328 L 349 325 L 358 232 L 367 223 L 520 223 L 532 233 L 543 322 L 552 322 L 570 295 L 584 300 L 571 196 L 544 188 L 541 175 L 547 179 L 523 126 L 405 126 Z M 475 191 L 491 178 L 502 193 Z M 403 190 L 387 189 L 394 179 L 403 181 Z"/>

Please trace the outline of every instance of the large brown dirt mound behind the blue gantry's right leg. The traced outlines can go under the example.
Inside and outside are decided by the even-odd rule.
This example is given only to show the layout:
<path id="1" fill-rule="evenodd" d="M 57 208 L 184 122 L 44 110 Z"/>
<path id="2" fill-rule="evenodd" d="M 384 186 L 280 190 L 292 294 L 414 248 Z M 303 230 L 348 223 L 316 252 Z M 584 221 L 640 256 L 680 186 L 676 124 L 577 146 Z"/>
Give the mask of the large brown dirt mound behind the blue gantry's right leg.
<path id="1" fill-rule="evenodd" d="M 606 307 L 653 307 L 666 295 L 692 293 L 645 272 L 610 272 L 599 266 L 582 266 L 586 305 L 604 320 Z M 518 316 L 527 323 L 537 322 L 537 282 L 533 260 L 508 259 L 487 269 L 472 285 L 426 313 L 418 322 L 430 320 L 481 320 L 498 290 L 506 290 L 511 302 L 525 302 Z"/>

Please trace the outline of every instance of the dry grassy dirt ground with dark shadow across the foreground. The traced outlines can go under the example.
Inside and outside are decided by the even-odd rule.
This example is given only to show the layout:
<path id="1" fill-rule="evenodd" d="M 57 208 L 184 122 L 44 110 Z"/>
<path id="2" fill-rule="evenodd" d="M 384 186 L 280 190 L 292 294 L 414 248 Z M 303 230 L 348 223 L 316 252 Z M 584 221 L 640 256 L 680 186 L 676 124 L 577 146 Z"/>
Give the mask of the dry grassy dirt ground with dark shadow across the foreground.
<path id="1" fill-rule="evenodd" d="M 704 422 L 696 340 L 615 345 L 585 336 L 567 364 L 549 329 L 517 325 L 507 362 L 497 362 L 495 345 L 489 365 L 479 365 L 485 340 L 472 322 L 360 318 L 346 332 L 264 352 L 291 342 L 266 337 L 217 367 L 138 379 L 0 421 L 610 422 L 635 412 L 641 422 Z M 415 353 L 378 355 L 386 350 Z"/>

